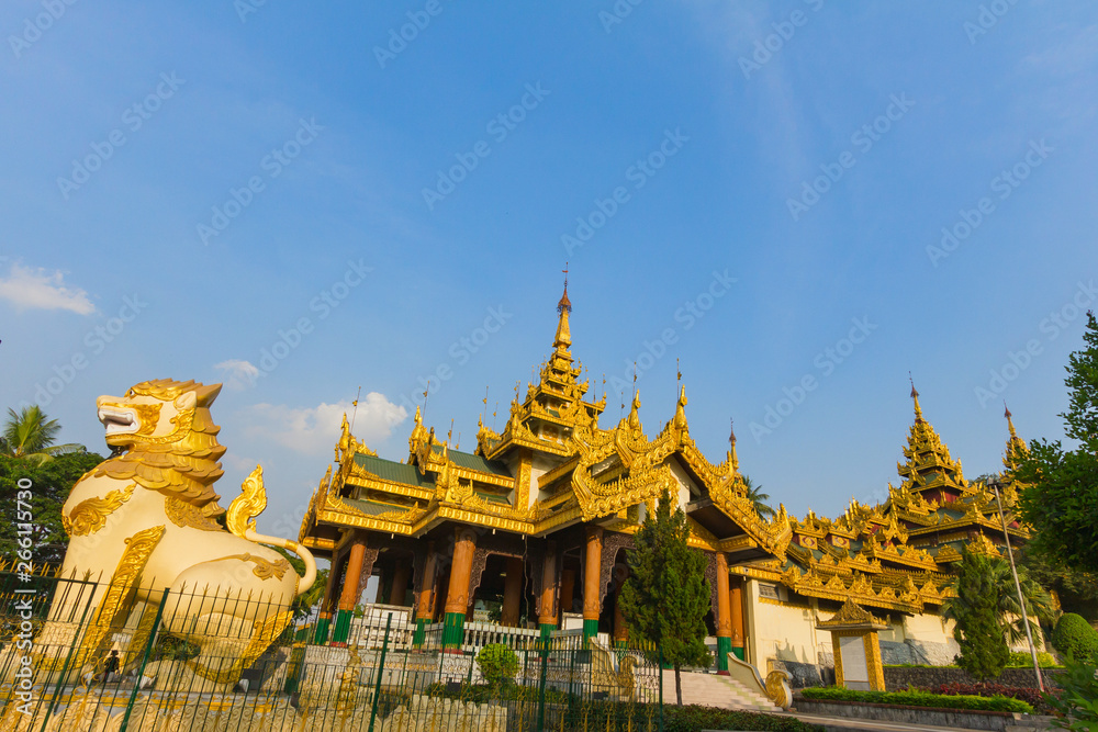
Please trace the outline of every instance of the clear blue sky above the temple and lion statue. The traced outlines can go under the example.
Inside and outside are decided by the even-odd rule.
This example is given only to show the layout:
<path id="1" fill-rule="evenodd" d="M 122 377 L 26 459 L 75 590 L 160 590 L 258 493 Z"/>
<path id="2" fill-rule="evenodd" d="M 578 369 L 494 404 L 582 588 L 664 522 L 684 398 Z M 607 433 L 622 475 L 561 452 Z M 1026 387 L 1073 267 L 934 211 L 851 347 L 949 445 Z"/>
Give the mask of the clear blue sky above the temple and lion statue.
<path id="1" fill-rule="evenodd" d="M 393 459 L 432 374 L 438 431 L 471 449 L 485 386 L 502 427 L 565 261 L 603 426 L 636 361 L 654 436 L 677 360 L 701 448 L 735 419 L 798 515 L 898 482 L 909 371 L 970 476 L 1002 398 L 1062 436 L 1093 3 L 10 0 L 0 32 L 0 405 L 102 451 L 97 395 L 224 381 L 219 492 L 264 463 L 268 530 L 359 387 Z"/>

